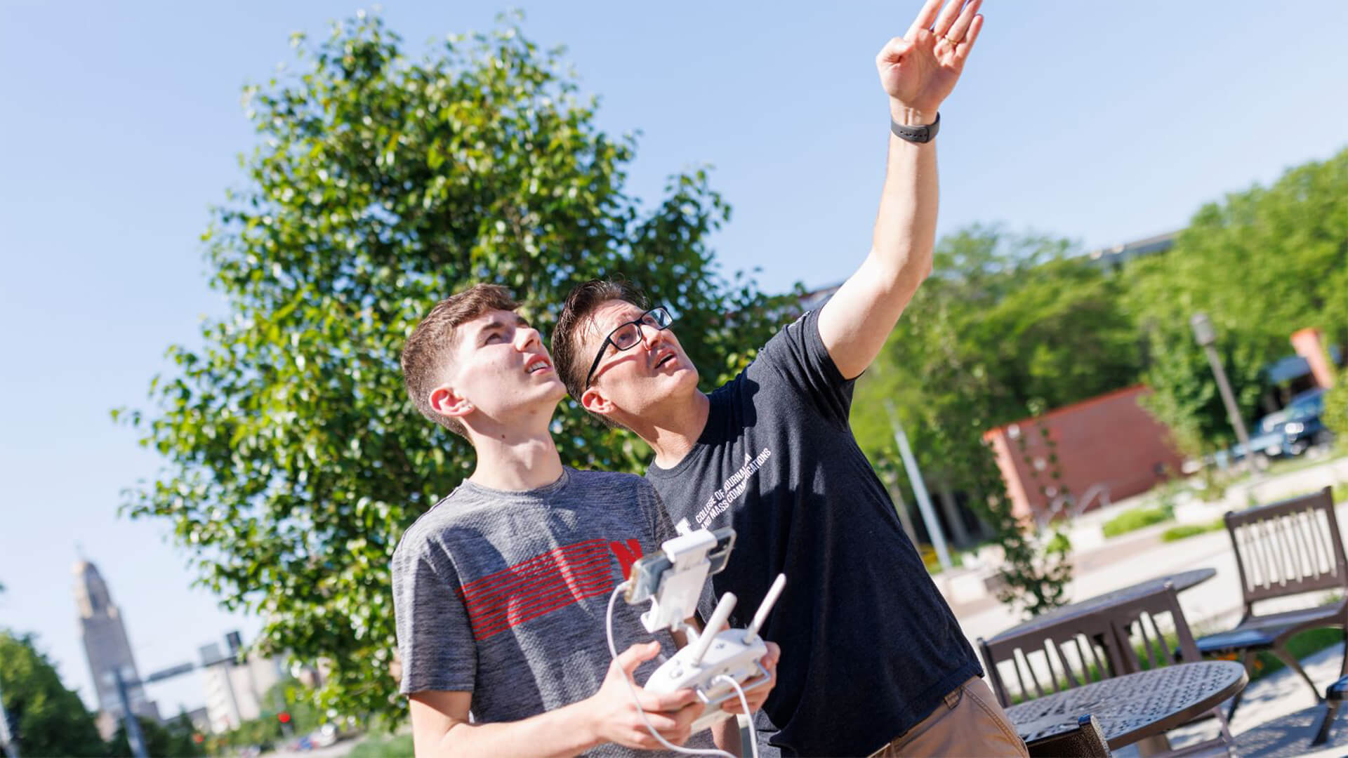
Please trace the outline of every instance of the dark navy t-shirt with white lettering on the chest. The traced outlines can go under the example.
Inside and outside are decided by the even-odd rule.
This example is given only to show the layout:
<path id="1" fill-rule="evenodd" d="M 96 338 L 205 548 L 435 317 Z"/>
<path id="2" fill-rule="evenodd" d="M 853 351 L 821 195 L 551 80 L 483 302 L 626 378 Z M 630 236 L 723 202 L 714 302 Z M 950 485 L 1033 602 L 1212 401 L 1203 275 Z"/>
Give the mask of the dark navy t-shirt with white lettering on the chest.
<path id="1" fill-rule="evenodd" d="M 762 630 L 782 646 L 763 711 L 785 755 L 867 755 L 983 673 L 852 436 L 853 384 L 806 313 L 709 395 L 693 450 L 646 473 L 674 521 L 735 527 L 712 577 L 739 597 L 732 626 L 786 573 Z"/>

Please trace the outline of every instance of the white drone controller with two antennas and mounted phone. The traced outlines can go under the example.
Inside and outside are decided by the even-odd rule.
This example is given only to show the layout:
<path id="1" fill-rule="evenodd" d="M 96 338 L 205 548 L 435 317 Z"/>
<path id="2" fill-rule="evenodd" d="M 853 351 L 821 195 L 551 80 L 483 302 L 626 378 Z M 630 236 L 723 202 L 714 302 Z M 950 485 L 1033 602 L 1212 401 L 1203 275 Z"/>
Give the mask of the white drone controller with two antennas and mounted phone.
<path id="1" fill-rule="evenodd" d="M 655 669 L 646 681 L 646 689 L 659 693 L 678 689 L 697 692 L 705 705 L 702 715 L 693 722 L 693 731 L 698 732 L 731 716 L 721 709 L 723 703 L 736 696 L 731 680 L 740 685 L 741 692 L 758 689 L 771 681 L 771 674 L 762 664 L 767 655 L 767 643 L 758 635 L 758 630 L 786 587 L 786 575 L 778 575 L 749 626 L 712 633 L 721 629 L 735 610 L 736 597 L 727 592 L 708 619 L 706 630 L 698 634 L 685 619 L 697 608 L 708 575 L 725 568 L 735 545 L 735 530 L 692 531 L 686 521 L 679 522 L 678 530 L 679 537 L 661 545 L 661 553 L 634 564 L 627 602 L 651 600 L 650 610 L 642 614 L 642 624 L 647 631 L 683 630 L 687 635 L 689 643 Z"/>

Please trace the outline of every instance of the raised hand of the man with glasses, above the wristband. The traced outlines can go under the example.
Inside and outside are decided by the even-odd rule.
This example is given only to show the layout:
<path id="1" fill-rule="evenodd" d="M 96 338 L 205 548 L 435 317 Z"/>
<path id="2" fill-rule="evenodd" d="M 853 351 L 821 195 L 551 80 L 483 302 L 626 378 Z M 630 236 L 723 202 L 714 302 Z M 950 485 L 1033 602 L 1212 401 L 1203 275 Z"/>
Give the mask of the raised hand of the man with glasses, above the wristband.
<path id="1" fill-rule="evenodd" d="M 942 7 L 944 4 L 944 7 Z M 909 121 L 931 123 L 964 71 L 983 16 L 983 0 L 927 0 L 907 34 L 875 57 L 891 111 Z"/>

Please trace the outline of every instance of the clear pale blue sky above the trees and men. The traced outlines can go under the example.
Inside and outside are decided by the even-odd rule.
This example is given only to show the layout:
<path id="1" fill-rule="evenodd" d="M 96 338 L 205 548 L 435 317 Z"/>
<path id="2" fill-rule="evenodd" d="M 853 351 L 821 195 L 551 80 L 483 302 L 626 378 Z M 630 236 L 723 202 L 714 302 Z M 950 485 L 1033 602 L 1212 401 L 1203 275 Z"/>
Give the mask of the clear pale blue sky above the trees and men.
<path id="1" fill-rule="evenodd" d="M 198 235 L 253 134 L 240 88 L 360 5 L 0 0 L 0 626 L 39 635 L 92 703 L 70 566 L 84 546 L 143 673 L 257 623 L 190 589 L 167 525 L 117 517 L 154 456 L 108 410 L 143 403 L 194 343 Z M 918 3 L 515 3 L 566 43 L 611 132 L 642 131 L 631 189 L 710 163 L 735 206 L 714 244 L 767 289 L 845 278 L 869 244 L 886 144 L 874 57 Z M 506 4 L 383 4 L 411 50 Z M 1348 4 L 987 0 L 942 109 L 941 231 L 1000 221 L 1103 247 L 1348 146 Z M 158 685 L 163 711 L 201 682 Z"/>

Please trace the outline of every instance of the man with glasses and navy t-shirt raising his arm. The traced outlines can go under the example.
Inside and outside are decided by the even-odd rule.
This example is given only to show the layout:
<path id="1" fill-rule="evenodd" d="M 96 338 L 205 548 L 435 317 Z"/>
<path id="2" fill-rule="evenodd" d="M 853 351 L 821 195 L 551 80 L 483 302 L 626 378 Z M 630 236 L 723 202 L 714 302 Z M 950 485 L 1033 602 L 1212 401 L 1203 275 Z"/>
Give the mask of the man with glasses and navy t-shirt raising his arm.
<path id="1" fill-rule="evenodd" d="M 669 313 L 625 282 L 573 290 L 553 332 L 572 397 L 650 444 L 647 479 L 670 515 L 735 527 L 716 593 L 752 610 L 787 573 L 764 626 L 786 655 L 763 709 L 783 754 L 1026 755 L 848 419 L 856 378 L 931 271 L 931 138 L 977 9 L 929 0 L 880 51 L 892 136 L 869 255 L 739 376 L 698 391 Z"/>

